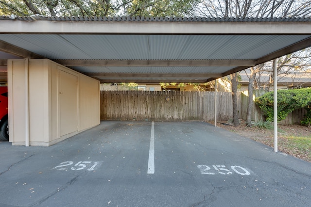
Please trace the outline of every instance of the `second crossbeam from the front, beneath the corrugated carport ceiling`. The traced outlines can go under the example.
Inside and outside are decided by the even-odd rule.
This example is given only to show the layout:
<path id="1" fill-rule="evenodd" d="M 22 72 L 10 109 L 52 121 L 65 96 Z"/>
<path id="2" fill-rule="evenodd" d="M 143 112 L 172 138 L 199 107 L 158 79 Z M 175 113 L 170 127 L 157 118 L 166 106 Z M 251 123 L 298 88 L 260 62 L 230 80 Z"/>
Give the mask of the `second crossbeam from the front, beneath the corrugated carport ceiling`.
<path id="1" fill-rule="evenodd" d="M 53 60 L 65 66 L 254 66 L 255 60 Z"/>

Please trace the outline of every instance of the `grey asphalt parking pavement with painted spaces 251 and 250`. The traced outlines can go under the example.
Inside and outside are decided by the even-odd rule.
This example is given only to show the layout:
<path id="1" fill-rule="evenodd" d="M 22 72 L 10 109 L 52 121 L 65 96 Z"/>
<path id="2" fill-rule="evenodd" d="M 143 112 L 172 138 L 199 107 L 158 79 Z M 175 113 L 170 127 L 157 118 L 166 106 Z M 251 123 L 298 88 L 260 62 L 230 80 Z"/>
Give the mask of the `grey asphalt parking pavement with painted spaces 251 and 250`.
<path id="1" fill-rule="evenodd" d="M 204 122 L 103 121 L 0 156 L 1 207 L 311 203 L 311 163 Z"/>

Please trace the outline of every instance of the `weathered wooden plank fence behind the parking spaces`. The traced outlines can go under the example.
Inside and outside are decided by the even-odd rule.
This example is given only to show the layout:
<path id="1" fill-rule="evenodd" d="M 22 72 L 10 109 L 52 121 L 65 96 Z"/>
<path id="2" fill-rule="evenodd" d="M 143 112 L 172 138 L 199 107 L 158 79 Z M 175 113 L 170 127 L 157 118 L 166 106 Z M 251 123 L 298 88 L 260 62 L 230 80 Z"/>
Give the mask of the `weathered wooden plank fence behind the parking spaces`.
<path id="1" fill-rule="evenodd" d="M 254 91 L 254 98 L 264 91 Z M 217 92 L 217 120 L 232 118 L 232 96 Z M 238 93 L 239 117 L 246 120 L 247 92 Z M 215 92 L 177 91 L 102 91 L 102 120 L 153 120 L 153 121 L 212 121 L 215 118 Z M 293 111 L 281 124 L 298 124 L 305 110 Z M 263 119 L 262 112 L 254 103 L 252 120 Z"/>

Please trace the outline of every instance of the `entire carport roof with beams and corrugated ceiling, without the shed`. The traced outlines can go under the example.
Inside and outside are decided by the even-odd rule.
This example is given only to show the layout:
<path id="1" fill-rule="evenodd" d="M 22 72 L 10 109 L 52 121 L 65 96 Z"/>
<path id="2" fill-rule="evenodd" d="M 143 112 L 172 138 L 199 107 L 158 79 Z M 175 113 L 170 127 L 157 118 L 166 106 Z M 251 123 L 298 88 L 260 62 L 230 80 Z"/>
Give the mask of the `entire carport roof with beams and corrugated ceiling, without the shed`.
<path id="1" fill-rule="evenodd" d="M 308 47 L 310 17 L 0 16 L 0 51 L 101 82 L 206 82 Z"/>

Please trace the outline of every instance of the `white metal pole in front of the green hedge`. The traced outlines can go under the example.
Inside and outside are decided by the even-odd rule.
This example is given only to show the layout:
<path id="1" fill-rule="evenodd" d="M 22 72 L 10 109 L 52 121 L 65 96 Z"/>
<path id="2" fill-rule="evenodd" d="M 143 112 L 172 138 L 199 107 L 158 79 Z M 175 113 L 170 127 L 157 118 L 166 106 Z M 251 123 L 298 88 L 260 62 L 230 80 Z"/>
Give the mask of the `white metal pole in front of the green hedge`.
<path id="1" fill-rule="evenodd" d="M 273 82 L 273 122 L 274 122 L 274 151 L 277 152 L 277 68 L 276 59 L 273 60 L 274 82 Z"/>

